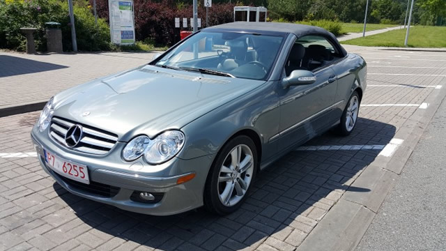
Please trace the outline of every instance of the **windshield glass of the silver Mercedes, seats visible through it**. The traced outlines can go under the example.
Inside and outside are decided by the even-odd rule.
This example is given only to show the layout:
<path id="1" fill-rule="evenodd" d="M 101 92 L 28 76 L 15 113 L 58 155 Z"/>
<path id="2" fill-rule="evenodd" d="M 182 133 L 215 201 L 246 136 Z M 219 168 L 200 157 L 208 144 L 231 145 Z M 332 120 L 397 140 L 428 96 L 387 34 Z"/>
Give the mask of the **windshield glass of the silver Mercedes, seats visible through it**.
<path id="1" fill-rule="evenodd" d="M 283 40 L 283 36 L 259 33 L 202 31 L 164 55 L 155 66 L 226 77 L 266 79 Z"/>

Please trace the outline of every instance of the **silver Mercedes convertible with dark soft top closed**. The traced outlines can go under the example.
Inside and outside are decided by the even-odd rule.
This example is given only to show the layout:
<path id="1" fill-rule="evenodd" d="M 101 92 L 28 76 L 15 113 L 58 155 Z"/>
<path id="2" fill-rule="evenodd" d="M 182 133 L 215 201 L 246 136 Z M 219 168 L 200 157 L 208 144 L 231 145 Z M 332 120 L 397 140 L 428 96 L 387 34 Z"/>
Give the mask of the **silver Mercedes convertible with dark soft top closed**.
<path id="1" fill-rule="evenodd" d="M 224 215 L 298 145 L 330 128 L 349 135 L 366 73 L 324 29 L 222 24 L 57 94 L 31 138 L 45 172 L 75 195 L 150 215 Z"/>

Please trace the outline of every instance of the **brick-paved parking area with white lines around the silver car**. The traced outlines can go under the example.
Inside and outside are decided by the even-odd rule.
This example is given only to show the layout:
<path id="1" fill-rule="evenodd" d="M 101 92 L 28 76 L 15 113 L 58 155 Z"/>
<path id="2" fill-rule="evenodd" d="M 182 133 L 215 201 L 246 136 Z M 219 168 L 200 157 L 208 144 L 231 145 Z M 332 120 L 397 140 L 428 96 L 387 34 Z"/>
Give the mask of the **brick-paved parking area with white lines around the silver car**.
<path id="1" fill-rule="evenodd" d="M 395 134 L 446 88 L 445 53 L 357 52 L 369 86 L 352 135 L 326 133 L 289 153 L 259 174 L 240 210 L 221 218 L 202 208 L 140 215 L 71 195 L 36 158 L 11 154 L 33 152 L 39 112 L 0 118 L 0 250 L 295 250 L 346 189 L 371 192 L 351 184 L 371 162 L 390 158 Z"/>

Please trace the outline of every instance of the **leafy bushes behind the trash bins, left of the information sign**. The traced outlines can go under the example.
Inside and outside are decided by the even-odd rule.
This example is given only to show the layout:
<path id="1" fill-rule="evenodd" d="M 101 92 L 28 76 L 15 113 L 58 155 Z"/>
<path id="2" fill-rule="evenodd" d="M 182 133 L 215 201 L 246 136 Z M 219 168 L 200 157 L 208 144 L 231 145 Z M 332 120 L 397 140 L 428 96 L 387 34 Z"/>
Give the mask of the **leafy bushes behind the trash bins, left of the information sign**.
<path id="1" fill-rule="evenodd" d="M 109 27 L 105 20 L 98 19 L 95 26 L 94 16 L 85 1 L 74 4 L 77 48 L 80 51 L 110 49 Z M 62 0 L 0 0 L 0 48 L 24 51 L 26 38 L 21 27 L 34 27 L 36 49 L 46 50 L 45 22 L 59 22 L 62 30 L 63 50 L 72 48 L 68 3 Z"/>

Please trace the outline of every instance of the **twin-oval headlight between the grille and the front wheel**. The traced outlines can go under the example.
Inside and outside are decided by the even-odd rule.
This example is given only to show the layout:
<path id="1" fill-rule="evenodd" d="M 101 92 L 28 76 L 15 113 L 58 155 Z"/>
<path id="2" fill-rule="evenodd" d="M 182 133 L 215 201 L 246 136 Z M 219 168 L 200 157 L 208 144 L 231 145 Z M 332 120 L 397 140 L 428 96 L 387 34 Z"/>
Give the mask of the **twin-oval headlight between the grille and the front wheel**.
<path id="1" fill-rule="evenodd" d="M 138 136 L 128 142 L 123 149 L 123 159 L 132 161 L 144 155 L 144 160 L 149 164 L 161 164 L 174 158 L 183 148 L 184 142 L 184 134 L 179 130 L 163 132 L 155 139 Z"/>

